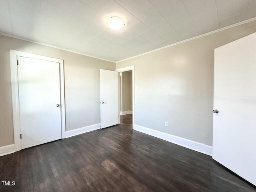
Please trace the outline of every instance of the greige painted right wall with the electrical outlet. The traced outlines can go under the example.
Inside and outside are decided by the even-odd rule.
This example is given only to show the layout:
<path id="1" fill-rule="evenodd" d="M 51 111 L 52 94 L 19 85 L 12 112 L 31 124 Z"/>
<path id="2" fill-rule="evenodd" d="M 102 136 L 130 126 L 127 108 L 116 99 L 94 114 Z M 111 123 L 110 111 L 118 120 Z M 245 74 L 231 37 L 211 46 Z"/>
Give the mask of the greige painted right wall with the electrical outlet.
<path id="1" fill-rule="evenodd" d="M 214 48 L 253 32 L 256 21 L 117 62 L 135 66 L 135 124 L 212 146 Z"/>

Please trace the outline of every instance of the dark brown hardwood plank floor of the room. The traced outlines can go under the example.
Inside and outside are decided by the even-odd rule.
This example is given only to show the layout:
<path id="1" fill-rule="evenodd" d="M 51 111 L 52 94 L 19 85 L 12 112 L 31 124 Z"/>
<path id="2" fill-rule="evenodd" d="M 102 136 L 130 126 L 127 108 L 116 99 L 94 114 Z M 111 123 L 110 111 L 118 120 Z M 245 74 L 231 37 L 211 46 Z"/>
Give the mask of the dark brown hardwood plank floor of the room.
<path id="1" fill-rule="evenodd" d="M 0 157 L 0 192 L 255 192 L 210 156 L 132 130 L 103 130 Z"/>

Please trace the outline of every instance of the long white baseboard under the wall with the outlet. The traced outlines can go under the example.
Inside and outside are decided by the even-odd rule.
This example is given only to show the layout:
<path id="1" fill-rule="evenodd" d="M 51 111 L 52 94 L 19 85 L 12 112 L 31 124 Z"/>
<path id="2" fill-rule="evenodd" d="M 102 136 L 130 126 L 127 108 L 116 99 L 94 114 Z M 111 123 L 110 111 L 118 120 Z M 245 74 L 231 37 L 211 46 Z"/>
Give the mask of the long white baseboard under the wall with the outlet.
<path id="1" fill-rule="evenodd" d="M 164 132 L 160 132 L 157 130 L 153 130 L 150 128 L 146 128 L 140 125 L 134 125 L 134 130 L 160 138 L 162 140 L 166 140 L 168 142 L 192 149 L 194 151 L 212 156 L 212 146 L 206 145 L 206 144 L 202 144 L 199 142 L 195 142 L 192 140 L 188 140 L 182 137 L 178 137 L 178 136 L 174 136 L 171 134 L 167 134 Z"/>

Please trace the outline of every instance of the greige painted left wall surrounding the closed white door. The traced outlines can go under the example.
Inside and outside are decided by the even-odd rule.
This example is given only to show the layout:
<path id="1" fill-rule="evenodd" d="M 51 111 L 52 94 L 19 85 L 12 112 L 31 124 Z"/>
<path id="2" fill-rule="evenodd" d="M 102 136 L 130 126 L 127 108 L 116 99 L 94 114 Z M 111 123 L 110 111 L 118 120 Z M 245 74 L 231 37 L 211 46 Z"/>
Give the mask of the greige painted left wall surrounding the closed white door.
<path id="1" fill-rule="evenodd" d="M 66 130 L 100 123 L 100 68 L 114 63 L 0 35 L 0 147 L 14 143 L 10 49 L 64 60 Z"/>

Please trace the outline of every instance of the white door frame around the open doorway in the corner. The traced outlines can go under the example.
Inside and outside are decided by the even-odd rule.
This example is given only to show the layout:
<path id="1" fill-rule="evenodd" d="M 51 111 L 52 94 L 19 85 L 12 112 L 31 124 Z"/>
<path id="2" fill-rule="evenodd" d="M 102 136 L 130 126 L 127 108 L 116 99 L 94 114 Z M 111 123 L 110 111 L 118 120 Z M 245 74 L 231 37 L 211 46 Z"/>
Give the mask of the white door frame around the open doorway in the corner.
<path id="1" fill-rule="evenodd" d="M 126 71 L 132 71 L 132 129 L 134 129 L 135 125 L 135 67 L 129 66 L 125 68 L 120 68 L 116 69 L 118 72 L 118 121 L 120 124 L 120 110 L 121 110 L 121 101 L 120 101 L 120 96 L 121 96 L 121 83 L 120 83 L 120 72 L 126 72 Z"/>

